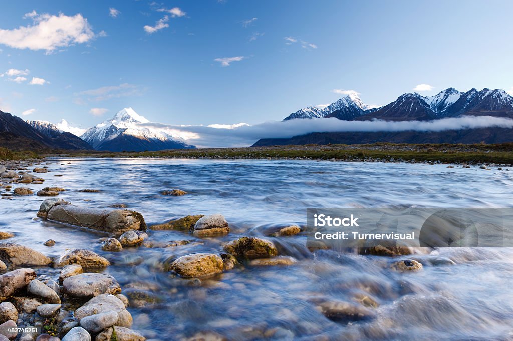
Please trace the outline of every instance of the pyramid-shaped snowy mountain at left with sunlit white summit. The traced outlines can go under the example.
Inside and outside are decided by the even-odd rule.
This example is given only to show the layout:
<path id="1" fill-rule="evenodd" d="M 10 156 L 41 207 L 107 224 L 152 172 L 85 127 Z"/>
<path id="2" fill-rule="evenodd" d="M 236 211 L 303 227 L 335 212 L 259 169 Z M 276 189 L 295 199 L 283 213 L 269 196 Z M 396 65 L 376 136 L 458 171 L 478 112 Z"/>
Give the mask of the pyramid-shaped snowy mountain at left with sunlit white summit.
<path id="1" fill-rule="evenodd" d="M 147 123 L 150 121 L 138 115 L 132 108 L 126 108 L 111 120 L 93 126 L 80 138 L 97 151 L 143 152 L 194 148 L 163 131 L 142 125 Z"/>

